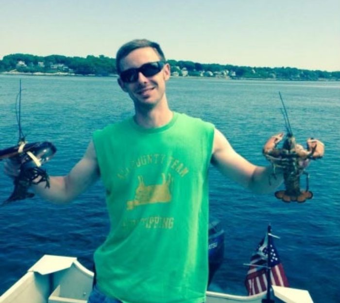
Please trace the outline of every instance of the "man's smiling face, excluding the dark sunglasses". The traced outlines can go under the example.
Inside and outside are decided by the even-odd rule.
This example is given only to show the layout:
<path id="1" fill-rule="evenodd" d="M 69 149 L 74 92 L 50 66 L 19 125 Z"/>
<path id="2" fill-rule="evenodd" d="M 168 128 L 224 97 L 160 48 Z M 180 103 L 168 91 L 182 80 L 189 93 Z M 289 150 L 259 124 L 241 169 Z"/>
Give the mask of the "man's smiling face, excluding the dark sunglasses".
<path id="1" fill-rule="evenodd" d="M 160 61 L 159 55 L 153 48 L 137 48 L 129 53 L 120 62 L 121 70 L 138 68 L 143 64 Z M 170 65 L 165 64 L 162 70 L 151 77 L 138 73 L 138 79 L 134 82 L 123 82 L 120 78 L 118 83 L 122 90 L 129 94 L 135 106 L 152 109 L 165 99 L 165 82 L 170 78 Z"/>

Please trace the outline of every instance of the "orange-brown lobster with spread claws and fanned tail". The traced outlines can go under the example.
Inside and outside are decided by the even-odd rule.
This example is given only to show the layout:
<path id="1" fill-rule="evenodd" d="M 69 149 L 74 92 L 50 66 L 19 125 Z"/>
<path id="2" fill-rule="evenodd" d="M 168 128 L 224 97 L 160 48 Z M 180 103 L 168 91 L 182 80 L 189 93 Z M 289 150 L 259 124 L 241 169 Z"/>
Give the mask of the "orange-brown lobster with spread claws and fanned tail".
<path id="1" fill-rule="evenodd" d="M 305 172 L 306 164 L 309 160 L 320 159 L 324 155 L 324 144 L 314 138 L 307 139 L 307 149 L 301 144 L 297 144 L 295 137 L 290 128 L 289 118 L 282 96 L 280 99 L 283 105 L 283 115 L 287 135 L 283 142 L 282 148 L 277 145 L 284 139 L 285 134 L 279 133 L 272 136 L 263 147 L 264 156 L 272 163 L 274 167 L 280 167 L 283 170 L 285 190 L 276 191 L 275 197 L 284 202 L 296 201 L 305 202 L 311 199 L 313 193 L 309 191 L 309 174 Z M 306 175 L 306 190 L 300 189 L 300 176 Z"/>

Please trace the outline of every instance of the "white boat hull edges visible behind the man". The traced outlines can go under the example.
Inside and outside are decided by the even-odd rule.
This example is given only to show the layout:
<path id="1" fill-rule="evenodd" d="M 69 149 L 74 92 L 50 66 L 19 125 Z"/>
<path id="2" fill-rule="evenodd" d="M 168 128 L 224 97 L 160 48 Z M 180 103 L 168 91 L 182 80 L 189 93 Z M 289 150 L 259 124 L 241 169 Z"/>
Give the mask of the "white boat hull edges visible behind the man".
<path id="1" fill-rule="evenodd" d="M 12 287 L 0 296 L 0 303 L 86 303 L 94 273 L 76 257 L 42 256 Z M 307 290 L 274 287 L 274 295 L 286 303 L 313 303 Z M 237 296 L 206 292 L 206 303 L 262 303 L 267 292 Z M 282 301 L 275 301 L 282 302 Z"/>

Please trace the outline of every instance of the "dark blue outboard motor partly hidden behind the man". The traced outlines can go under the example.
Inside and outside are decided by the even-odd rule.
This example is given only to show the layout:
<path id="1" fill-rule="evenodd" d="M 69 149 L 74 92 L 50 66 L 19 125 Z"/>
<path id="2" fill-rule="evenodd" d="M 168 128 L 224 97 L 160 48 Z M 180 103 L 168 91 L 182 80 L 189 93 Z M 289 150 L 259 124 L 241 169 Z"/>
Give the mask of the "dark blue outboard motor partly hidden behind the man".
<path id="1" fill-rule="evenodd" d="M 209 278 L 208 286 L 212 281 L 215 272 L 220 268 L 223 263 L 224 255 L 224 230 L 221 223 L 217 219 L 212 219 L 209 222 L 209 242 L 208 242 L 208 255 L 209 255 Z"/>

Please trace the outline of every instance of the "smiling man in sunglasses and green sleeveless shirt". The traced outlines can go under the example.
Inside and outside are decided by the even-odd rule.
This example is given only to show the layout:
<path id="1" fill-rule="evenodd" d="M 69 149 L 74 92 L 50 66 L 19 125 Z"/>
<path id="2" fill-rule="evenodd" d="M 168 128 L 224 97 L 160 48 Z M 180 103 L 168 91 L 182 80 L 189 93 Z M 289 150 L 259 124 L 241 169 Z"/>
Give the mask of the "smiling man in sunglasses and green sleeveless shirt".
<path id="1" fill-rule="evenodd" d="M 170 110 L 170 65 L 158 44 L 131 41 L 116 61 L 134 117 L 96 131 L 68 175 L 51 176 L 49 189 L 38 184 L 34 190 L 66 203 L 102 178 L 111 229 L 94 255 L 97 282 L 90 303 L 202 303 L 209 164 L 259 193 L 273 191 L 282 175 L 269 183 L 272 167 L 238 155 L 212 124 Z M 17 174 L 9 165 L 5 169 Z"/>

